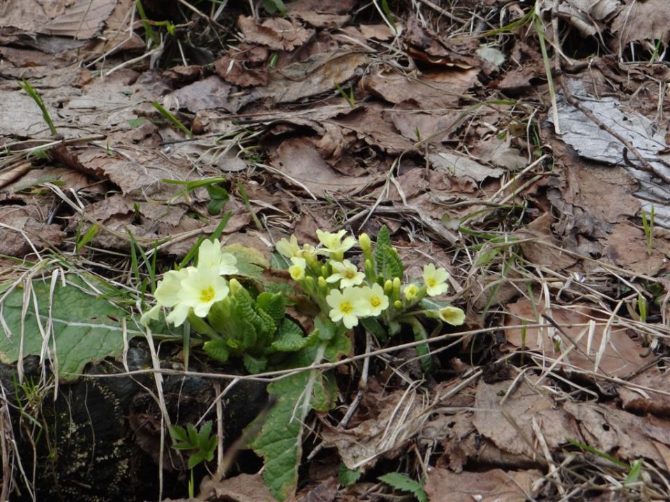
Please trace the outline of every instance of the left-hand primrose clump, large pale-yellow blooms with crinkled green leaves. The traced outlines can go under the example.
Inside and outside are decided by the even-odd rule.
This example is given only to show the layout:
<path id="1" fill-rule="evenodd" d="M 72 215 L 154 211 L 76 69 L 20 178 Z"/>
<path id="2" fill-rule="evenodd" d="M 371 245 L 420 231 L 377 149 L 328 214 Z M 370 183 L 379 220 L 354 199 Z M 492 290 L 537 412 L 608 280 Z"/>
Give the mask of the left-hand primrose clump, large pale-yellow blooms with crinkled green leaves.
<path id="1" fill-rule="evenodd" d="M 265 370 L 275 354 L 294 352 L 309 342 L 295 322 L 285 317 L 286 298 L 281 293 L 253 296 L 230 275 L 238 273 L 233 254 L 221 252 L 221 243 L 203 241 L 196 266 L 168 271 L 156 286 L 156 305 L 142 314 L 148 326 L 170 310 L 165 320 L 174 326 L 185 321 L 207 339 L 204 351 L 225 362 L 243 358 L 251 373 Z M 277 359 L 275 357 L 275 359 Z"/>

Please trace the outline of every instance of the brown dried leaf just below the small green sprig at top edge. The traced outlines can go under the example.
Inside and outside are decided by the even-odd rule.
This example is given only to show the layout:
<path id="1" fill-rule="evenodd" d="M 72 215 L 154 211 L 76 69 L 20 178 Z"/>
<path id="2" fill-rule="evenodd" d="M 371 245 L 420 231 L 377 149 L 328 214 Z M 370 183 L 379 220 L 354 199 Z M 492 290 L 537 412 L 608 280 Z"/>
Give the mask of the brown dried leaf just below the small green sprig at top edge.
<path id="1" fill-rule="evenodd" d="M 293 50 L 314 34 L 314 30 L 304 29 L 281 17 L 271 17 L 260 24 L 254 17 L 241 15 L 237 24 L 246 40 L 274 50 Z"/>

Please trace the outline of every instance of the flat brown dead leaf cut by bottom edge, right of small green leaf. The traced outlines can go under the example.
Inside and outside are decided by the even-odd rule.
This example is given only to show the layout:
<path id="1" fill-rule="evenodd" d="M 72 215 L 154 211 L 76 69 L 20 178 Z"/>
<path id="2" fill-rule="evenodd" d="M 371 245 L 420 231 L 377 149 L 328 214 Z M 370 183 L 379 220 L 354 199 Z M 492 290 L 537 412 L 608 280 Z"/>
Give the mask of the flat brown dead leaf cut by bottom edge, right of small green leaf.
<path id="1" fill-rule="evenodd" d="M 502 471 L 456 474 L 446 469 L 431 469 L 426 480 L 426 494 L 431 502 L 525 502 L 539 491 L 533 489 L 542 472 Z"/>

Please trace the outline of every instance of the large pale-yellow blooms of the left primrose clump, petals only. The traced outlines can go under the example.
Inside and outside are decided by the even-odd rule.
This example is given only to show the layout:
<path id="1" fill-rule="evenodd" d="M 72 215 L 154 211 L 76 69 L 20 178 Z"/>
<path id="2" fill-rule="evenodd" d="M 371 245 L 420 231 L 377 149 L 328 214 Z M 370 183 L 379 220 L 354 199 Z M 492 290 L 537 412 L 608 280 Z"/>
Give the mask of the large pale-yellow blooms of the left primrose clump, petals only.
<path id="1" fill-rule="evenodd" d="M 230 291 L 223 275 L 237 273 L 237 259 L 221 252 L 218 240 L 203 241 L 198 248 L 198 265 L 165 273 L 156 286 L 156 305 L 144 312 L 140 323 L 149 325 L 151 319 L 158 319 L 161 307 L 171 309 L 165 320 L 181 326 L 188 314 L 206 317 L 211 305 L 223 300 Z"/>

